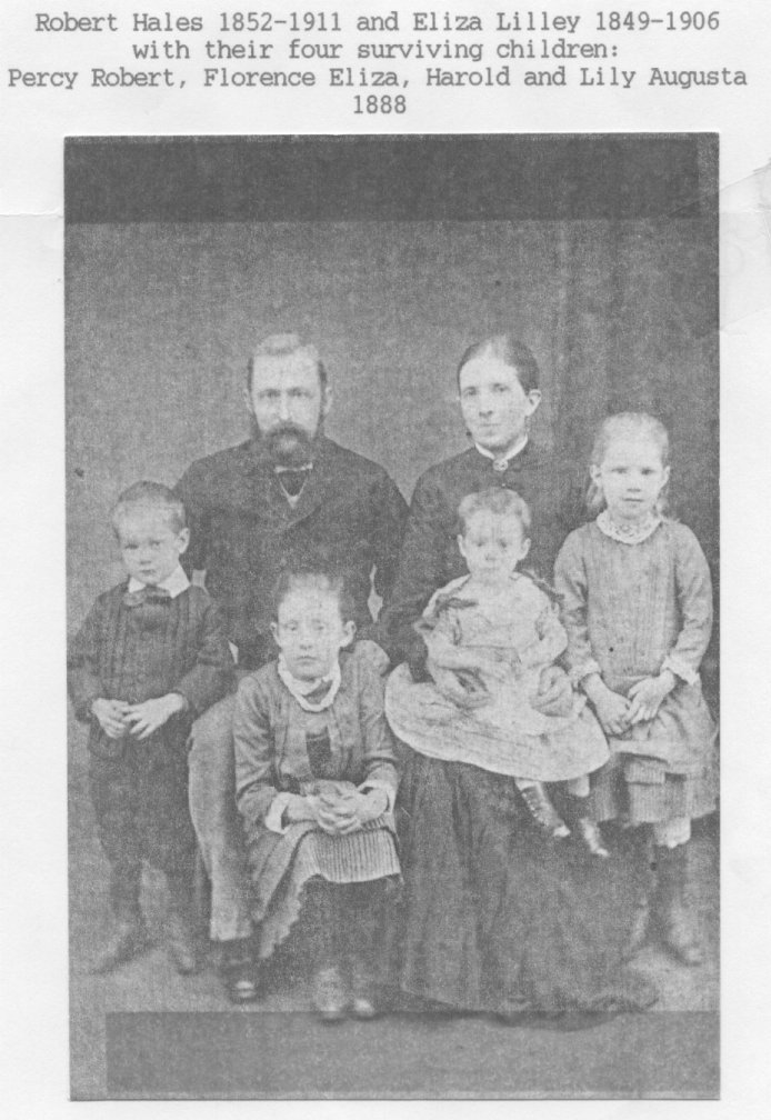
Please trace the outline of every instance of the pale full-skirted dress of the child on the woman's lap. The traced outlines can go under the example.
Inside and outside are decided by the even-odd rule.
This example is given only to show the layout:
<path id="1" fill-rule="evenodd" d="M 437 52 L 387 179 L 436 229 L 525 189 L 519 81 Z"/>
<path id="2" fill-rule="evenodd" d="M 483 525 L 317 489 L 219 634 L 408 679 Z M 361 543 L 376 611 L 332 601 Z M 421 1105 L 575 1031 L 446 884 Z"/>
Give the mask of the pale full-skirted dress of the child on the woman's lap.
<path id="1" fill-rule="evenodd" d="M 511 620 L 499 620 L 465 591 L 471 577 L 437 591 L 424 612 L 422 633 L 435 631 L 454 645 L 489 653 L 507 666 L 505 680 L 483 680 L 490 702 L 464 710 L 433 682 L 415 682 L 407 665 L 389 678 L 386 713 L 396 735 L 431 758 L 541 782 L 589 774 L 607 759 L 600 725 L 575 694 L 565 716 L 544 716 L 531 704 L 541 670 L 567 646 L 556 607 L 528 576 L 510 582 Z"/>

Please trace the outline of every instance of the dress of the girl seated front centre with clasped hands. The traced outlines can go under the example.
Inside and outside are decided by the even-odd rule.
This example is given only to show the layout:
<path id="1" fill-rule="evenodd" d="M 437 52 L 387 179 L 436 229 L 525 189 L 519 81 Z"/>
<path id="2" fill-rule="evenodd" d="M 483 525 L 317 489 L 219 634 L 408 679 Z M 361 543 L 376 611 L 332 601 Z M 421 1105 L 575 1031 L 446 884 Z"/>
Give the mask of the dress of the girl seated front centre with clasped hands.
<path id="1" fill-rule="evenodd" d="M 356 643 L 341 653 L 340 673 L 318 703 L 292 694 L 278 662 L 241 681 L 233 724 L 236 793 L 253 884 L 252 917 L 259 923 L 263 959 L 299 917 L 309 880 L 354 888 L 399 875 L 391 813 L 347 836 L 329 836 L 315 821 L 284 825 L 281 819 L 281 794 L 323 796 L 328 784 L 380 787 L 393 803 L 397 760 L 383 716 L 387 666 L 386 654 L 373 642 Z M 343 895 L 334 922 L 345 921 L 345 902 L 355 905 L 357 895 L 359 909 L 374 907 L 372 895 L 361 889 Z M 352 935 L 359 924 L 354 916 Z"/>

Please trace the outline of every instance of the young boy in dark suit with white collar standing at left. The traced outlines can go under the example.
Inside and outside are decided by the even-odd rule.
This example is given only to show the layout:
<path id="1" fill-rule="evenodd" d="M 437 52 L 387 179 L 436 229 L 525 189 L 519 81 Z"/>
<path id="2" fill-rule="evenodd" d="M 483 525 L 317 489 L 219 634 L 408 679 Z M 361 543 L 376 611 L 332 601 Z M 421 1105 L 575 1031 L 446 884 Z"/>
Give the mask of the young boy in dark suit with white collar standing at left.
<path id="1" fill-rule="evenodd" d="M 220 614 L 179 564 L 185 507 L 159 483 L 124 491 L 112 513 L 128 582 L 100 595 L 68 657 L 69 694 L 89 722 L 91 796 L 110 864 L 114 930 L 95 971 L 147 943 L 142 861 L 166 874 L 166 935 L 180 973 L 197 968 L 192 923 L 195 833 L 187 797 L 193 720 L 227 690 L 232 657 Z"/>

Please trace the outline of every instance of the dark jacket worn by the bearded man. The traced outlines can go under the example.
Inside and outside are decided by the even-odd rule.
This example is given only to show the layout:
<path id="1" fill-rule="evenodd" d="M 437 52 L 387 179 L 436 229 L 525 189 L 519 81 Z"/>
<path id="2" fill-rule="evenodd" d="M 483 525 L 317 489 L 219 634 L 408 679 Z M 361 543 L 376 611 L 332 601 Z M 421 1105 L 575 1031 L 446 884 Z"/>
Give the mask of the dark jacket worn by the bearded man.
<path id="1" fill-rule="evenodd" d="M 287 501 L 263 445 L 248 440 L 198 459 L 177 485 L 187 508 L 185 568 L 206 570 L 206 588 L 225 615 L 239 665 L 276 655 L 271 598 L 281 563 L 319 554 L 344 567 L 356 624 L 372 624 L 368 599 L 387 599 L 396 577 L 407 505 L 382 467 L 324 436 L 297 504 Z"/>

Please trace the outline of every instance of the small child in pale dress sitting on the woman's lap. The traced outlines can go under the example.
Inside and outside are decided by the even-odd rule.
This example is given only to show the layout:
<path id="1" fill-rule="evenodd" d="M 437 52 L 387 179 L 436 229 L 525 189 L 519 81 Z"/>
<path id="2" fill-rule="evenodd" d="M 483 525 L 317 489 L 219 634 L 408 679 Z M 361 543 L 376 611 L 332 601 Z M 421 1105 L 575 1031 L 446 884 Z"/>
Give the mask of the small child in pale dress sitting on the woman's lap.
<path id="1" fill-rule="evenodd" d="M 531 704 L 541 671 L 567 646 L 554 597 L 518 570 L 528 554 L 530 511 L 513 491 L 470 494 L 458 508 L 458 549 L 468 575 L 430 599 L 418 628 L 427 643 L 479 650 L 489 660 L 480 673 L 458 679 L 485 702 L 462 709 L 433 683 L 414 683 L 407 666 L 387 691 L 394 732 L 433 758 L 472 763 L 514 778 L 536 821 L 550 834 L 569 834 L 544 782 L 566 782 L 563 802 L 570 827 L 595 856 L 607 856 L 588 814 L 588 774 L 609 757 L 605 738 L 584 697 L 564 716 Z"/>

